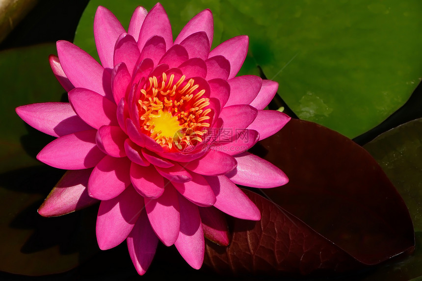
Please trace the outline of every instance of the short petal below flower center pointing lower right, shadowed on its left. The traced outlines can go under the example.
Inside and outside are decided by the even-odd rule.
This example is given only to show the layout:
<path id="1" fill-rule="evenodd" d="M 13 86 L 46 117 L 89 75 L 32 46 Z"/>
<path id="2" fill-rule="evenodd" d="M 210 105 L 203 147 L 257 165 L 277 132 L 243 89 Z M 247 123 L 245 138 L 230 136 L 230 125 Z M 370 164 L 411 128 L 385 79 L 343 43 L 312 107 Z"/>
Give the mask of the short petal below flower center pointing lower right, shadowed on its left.
<path id="1" fill-rule="evenodd" d="M 190 172 L 192 180 L 187 182 L 172 182 L 180 194 L 198 206 L 209 207 L 215 203 L 215 195 L 203 176 Z"/>

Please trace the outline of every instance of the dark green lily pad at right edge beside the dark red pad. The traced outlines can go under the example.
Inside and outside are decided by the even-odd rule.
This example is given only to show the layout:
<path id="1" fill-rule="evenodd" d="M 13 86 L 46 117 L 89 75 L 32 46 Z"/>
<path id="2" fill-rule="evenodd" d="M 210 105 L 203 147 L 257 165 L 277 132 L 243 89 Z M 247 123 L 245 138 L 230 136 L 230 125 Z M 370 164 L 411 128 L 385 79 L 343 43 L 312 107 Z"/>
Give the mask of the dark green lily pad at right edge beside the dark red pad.
<path id="1" fill-rule="evenodd" d="M 391 129 L 364 148 L 396 186 L 409 209 L 415 231 L 422 231 L 422 119 Z"/>

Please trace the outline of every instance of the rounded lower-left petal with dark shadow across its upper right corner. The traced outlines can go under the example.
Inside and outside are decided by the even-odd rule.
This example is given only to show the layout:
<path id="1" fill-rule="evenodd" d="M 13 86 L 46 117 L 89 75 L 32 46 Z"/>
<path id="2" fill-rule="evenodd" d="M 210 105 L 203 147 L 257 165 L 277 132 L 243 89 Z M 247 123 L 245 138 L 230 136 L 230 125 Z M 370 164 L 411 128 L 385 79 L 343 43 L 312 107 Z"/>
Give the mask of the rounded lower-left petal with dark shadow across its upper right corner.
<path id="1" fill-rule="evenodd" d="M 130 184 L 131 161 L 106 155 L 95 166 L 88 181 L 89 196 L 98 200 L 110 200 L 123 192 Z"/>

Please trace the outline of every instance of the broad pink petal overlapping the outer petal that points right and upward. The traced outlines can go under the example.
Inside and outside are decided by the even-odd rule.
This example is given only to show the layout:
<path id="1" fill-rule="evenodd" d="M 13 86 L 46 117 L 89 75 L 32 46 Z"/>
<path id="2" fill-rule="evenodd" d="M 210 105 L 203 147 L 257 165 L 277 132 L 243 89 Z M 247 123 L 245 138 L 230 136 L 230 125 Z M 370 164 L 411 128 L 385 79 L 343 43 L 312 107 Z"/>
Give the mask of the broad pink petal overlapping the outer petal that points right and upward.
<path id="1" fill-rule="evenodd" d="M 226 106 L 233 104 L 249 104 L 258 95 L 262 79 L 255 75 L 244 75 L 228 80 L 230 85 L 230 98 Z"/>

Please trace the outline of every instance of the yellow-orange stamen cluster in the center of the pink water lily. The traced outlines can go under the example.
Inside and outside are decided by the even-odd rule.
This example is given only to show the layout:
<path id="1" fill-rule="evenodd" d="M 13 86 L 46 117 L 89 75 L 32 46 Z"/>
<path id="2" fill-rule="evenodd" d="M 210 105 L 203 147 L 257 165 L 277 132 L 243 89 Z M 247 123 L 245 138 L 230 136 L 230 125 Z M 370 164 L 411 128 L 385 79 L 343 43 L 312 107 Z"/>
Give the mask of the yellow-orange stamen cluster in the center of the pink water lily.
<path id="1" fill-rule="evenodd" d="M 161 77 L 160 77 L 161 78 Z M 194 79 L 177 82 L 174 74 L 162 79 L 149 77 L 138 101 L 139 122 L 143 133 L 169 151 L 184 150 L 203 141 L 210 127 L 210 99 Z"/>

